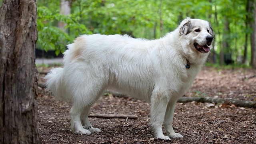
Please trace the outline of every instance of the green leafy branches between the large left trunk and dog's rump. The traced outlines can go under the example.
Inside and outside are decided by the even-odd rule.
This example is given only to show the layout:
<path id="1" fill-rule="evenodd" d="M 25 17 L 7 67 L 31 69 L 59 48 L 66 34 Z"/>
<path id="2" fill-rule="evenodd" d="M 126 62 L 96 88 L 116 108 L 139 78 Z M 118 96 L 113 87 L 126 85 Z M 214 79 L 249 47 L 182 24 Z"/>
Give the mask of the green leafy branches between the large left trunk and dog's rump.
<path id="1" fill-rule="evenodd" d="M 45 50 L 55 50 L 58 55 L 66 50 L 66 45 L 71 43 L 72 40 L 79 34 L 90 34 L 84 24 L 80 24 L 77 18 L 72 15 L 62 15 L 58 11 L 52 12 L 46 6 L 38 6 L 38 42 L 37 47 Z M 64 30 L 58 28 L 58 22 L 66 23 L 65 29 L 72 31 L 68 34 Z"/>

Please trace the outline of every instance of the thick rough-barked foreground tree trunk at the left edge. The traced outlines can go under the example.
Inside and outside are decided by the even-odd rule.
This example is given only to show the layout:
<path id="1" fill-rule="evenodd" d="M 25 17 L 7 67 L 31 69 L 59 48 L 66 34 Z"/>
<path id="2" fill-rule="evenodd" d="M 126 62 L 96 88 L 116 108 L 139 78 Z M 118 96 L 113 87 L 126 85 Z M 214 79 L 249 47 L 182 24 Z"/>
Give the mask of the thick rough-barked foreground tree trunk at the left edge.
<path id="1" fill-rule="evenodd" d="M 0 143 L 40 144 L 38 129 L 36 0 L 0 7 Z"/>

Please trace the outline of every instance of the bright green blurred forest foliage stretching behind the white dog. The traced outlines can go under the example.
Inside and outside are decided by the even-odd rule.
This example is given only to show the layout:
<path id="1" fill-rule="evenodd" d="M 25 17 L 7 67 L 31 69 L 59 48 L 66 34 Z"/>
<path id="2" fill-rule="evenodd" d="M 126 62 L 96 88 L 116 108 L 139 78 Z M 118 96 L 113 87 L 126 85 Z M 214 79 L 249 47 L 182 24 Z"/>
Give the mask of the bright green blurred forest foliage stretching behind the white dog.
<path id="1" fill-rule="evenodd" d="M 38 0 L 38 48 L 56 50 L 58 54 L 64 52 L 65 46 L 76 36 L 92 33 L 160 38 L 174 30 L 182 19 L 191 17 L 211 22 L 217 56 L 224 49 L 232 55 L 235 64 L 240 64 L 247 43 L 248 65 L 250 38 L 246 42 L 245 35 L 253 30 L 246 22 L 253 18 L 246 4 L 247 1 L 237 0 L 70 0 L 71 14 L 65 16 L 59 14 L 60 1 Z M 67 24 L 66 31 L 58 28 L 58 22 Z M 228 23 L 228 30 L 225 30 L 225 23 Z M 223 42 L 229 47 L 223 48 Z"/>

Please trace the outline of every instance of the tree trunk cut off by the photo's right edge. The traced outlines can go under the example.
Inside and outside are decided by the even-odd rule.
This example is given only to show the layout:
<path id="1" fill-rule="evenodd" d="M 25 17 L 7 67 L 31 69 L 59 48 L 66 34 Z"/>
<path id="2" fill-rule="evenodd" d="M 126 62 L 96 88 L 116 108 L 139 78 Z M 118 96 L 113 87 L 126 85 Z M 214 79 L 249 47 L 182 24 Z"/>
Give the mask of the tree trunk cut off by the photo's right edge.
<path id="1" fill-rule="evenodd" d="M 251 28 L 253 29 L 253 33 L 251 34 L 251 48 L 252 48 L 252 56 L 251 56 L 251 65 L 252 68 L 256 68 L 256 1 L 254 2 L 254 11 L 253 18 L 254 21 L 251 22 Z"/>

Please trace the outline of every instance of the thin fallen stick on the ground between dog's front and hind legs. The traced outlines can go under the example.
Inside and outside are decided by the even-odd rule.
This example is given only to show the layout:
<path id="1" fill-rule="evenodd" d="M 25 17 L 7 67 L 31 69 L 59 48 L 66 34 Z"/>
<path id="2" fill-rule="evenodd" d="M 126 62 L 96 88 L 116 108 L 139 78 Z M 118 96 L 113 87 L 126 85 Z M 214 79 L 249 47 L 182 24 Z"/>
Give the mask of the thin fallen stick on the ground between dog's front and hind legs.
<path id="1" fill-rule="evenodd" d="M 129 114 L 90 114 L 89 117 L 94 118 L 124 118 L 124 119 L 138 119 L 136 115 Z"/>

